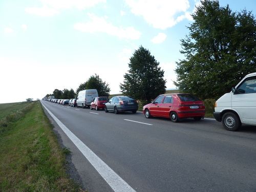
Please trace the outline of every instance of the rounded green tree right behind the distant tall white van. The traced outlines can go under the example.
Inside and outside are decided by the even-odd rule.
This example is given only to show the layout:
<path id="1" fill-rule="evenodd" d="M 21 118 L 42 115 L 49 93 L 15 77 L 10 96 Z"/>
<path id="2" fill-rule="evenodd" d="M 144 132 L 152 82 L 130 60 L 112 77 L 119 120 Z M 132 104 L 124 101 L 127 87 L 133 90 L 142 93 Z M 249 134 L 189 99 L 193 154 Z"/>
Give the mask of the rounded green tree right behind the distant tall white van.
<path id="1" fill-rule="evenodd" d="M 92 75 L 86 82 L 81 83 L 77 88 L 76 92 L 86 90 L 86 89 L 96 89 L 98 91 L 99 97 L 110 95 L 109 83 L 103 82 L 99 75 Z"/>

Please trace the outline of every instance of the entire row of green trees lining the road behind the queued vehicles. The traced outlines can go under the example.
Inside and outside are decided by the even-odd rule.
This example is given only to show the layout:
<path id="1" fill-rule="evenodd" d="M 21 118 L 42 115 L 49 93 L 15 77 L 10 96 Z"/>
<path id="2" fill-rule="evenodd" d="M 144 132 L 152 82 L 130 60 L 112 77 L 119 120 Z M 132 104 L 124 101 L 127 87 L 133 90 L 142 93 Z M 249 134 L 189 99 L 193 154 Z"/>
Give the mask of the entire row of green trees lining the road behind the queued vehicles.
<path id="1" fill-rule="evenodd" d="M 217 99 L 230 91 L 246 74 L 256 72 L 256 20 L 251 12 L 232 12 L 219 1 L 205 0 L 191 14 L 194 22 L 189 34 L 181 39 L 175 86 L 181 93 L 193 93 L 201 99 Z M 119 87 L 122 94 L 143 104 L 165 93 L 164 71 L 151 52 L 142 46 L 135 50 Z M 109 96 L 109 84 L 97 74 L 73 89 L 55 89 L 55 98 L 75 98 L 79 91 L 97 89 Z M 47 95 L 49 96 L 49 95 Z"/>

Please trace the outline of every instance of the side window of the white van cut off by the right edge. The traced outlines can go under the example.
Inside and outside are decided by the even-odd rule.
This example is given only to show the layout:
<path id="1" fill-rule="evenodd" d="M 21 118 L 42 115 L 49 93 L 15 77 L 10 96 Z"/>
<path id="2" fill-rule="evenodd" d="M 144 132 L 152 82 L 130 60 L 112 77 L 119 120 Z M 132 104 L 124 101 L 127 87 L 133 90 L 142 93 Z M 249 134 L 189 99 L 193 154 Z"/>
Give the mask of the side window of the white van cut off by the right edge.
<path id="1" fill-rule="evenodd" d="M 238 94 L 256 93 L 256 77 L 249 77 L 237 88 Z"/>

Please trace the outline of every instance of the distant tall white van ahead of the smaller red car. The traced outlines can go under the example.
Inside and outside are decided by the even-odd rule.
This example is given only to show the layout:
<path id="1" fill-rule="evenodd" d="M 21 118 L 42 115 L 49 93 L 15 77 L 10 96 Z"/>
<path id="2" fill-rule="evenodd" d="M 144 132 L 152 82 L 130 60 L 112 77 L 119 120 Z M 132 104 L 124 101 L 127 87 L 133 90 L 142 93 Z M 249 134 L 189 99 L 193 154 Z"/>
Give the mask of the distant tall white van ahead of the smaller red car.
<path id="1" fill-rule="evenodd" d="M 77 96 L 77 107 L 81 106 L 83 109 L 91 106 L 91 102 L 95 97 L 98 97 L 98 91 L 96 89 L 87 89 L 79 91 Z"/>

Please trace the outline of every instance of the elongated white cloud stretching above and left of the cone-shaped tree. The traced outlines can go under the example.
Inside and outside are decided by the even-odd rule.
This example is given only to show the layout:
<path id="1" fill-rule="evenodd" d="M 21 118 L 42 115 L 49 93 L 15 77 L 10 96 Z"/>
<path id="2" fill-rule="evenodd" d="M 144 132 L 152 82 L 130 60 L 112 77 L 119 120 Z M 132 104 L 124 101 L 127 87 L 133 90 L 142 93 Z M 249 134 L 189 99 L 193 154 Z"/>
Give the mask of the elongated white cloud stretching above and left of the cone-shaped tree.
<path id="1" fill-rule="evenodd" d="M 108 23 L 104 17 L 97 17 L 95 14 L 88 14 L 92 19 L 92 22 L 88 23 L 77 23 L 74 28 L 82 32 L 103 32 L 109 35 L 114 35 L 121 38 L 127 39 L 138 39 L 140 38 L 141 32 L 136 31 L 133 27 L 123 28 L 122 26 L 115 27 L 111 23 Z"/>

